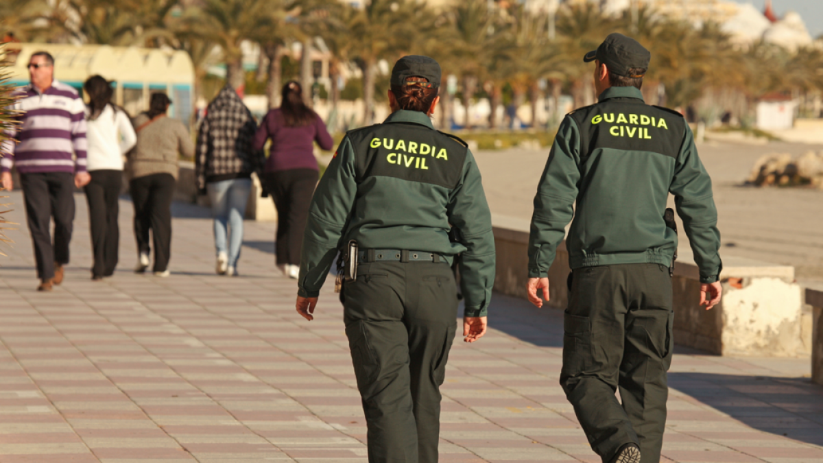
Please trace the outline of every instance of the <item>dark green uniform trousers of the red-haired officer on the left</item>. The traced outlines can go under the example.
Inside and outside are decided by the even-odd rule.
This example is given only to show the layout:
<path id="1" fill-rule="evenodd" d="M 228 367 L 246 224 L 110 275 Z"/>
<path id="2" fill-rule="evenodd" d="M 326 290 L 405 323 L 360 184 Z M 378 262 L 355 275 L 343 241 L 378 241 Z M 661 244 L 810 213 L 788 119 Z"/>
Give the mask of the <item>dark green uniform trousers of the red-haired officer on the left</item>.
<path id="1" fill-rule="evenodd" d="M 457 329 L 452 269 L 444 262 L 360 264 L 342 300 L 370 463 L 436 463 L 439 386 Z"/>

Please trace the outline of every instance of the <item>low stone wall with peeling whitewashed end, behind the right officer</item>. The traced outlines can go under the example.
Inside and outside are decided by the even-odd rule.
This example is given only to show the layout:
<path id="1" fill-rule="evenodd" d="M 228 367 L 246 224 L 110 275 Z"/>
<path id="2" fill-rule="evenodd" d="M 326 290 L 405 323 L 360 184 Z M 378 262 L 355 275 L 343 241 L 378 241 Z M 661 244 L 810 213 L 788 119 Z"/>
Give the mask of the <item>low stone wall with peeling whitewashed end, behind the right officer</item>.
<path id="1" fill-rule="evenodd" d="M 495 216 L 495 291 L 526 297 L 528 221 Z M 685 238 L 684 238 L 685 239 Z M 794 268 L 754 260 L 723 259 L 723 299 L 711 311 L 699 306 L 700 280 L 690 256 L 675 264 L 675 342 L 718 355 L 797 357 L 809 354 L 802 339 L 801 288 Z M 549 306 L 565 309 L 570 269 L 565 243 L 549 269 Z"/>

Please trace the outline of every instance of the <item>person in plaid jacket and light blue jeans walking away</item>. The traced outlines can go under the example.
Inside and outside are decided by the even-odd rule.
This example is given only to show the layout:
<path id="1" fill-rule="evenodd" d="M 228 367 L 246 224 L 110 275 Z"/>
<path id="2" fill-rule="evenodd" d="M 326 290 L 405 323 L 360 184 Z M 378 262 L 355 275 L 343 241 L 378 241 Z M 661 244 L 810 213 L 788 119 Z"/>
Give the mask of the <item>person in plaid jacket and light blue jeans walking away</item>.
<path id="1" fill-rule="evenodd" d="M 256 131 L 249 108 L 229 84 L 208 105 L 198 130 L 195 172 L 198 193 L 212 203 L 217 274 L 237 275 L 251 175 L 262 174 L 266 161 L 253 147 Z"/>

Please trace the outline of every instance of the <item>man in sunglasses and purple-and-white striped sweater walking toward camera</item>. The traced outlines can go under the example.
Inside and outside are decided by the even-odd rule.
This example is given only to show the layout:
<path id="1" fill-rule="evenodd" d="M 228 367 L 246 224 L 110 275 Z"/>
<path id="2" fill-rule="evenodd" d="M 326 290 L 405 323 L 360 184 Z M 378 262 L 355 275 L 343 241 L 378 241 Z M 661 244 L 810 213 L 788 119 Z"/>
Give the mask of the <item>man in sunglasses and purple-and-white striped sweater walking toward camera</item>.
<path id="1" fill-rule="evenodd" d="M 31 55 L 30 85 L 16 91 L 20 99 L 17 143 L 0 150 L 0 181 L 12 189 L 16 164 L 26 203 L 26 221 L 35 247 L 38 291 L 51 291 L 63 282 L 68 244 L 74 222 L 74 189 L 91 180 L 86 172 L 86 105 L 72 87 L 54 80 L 54 58 L 46 52 Z M 73 156 L 72 156 L 73 155 Z M 54 242 L 49 230 L 54 218 Z"/>

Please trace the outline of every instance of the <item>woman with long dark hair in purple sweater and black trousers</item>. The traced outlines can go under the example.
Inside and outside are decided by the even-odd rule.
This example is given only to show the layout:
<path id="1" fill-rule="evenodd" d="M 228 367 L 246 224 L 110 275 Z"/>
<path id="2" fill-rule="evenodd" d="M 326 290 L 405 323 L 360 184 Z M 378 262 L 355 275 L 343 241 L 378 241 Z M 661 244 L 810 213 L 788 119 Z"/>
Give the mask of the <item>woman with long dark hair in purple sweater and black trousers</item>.
<path id="1" fill-rule="evenodd" d="M 277 208 L 277 267 L 291 278 L 300 272 L 300 246 L 319 171 L 313 143 L 332 149 L 332 136 L 320 116 L 303 102 L 297 82 L 283 86 L 282 103 L 270 110 L 257 133 L 254 148 L 263 149 L 271 138 L 271 154 L 263 174 L 263 189 Z"/>

